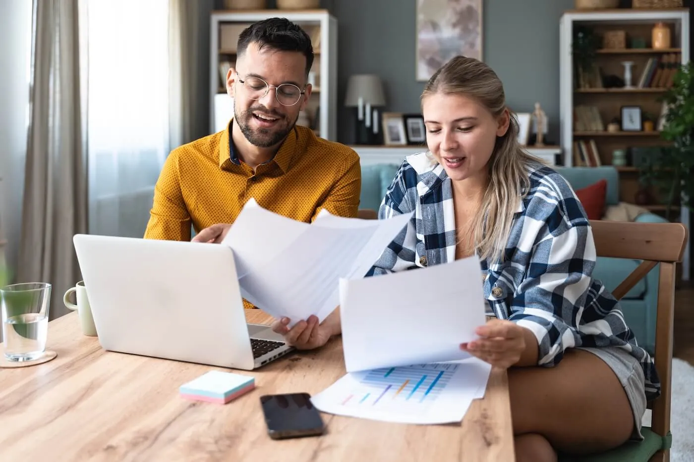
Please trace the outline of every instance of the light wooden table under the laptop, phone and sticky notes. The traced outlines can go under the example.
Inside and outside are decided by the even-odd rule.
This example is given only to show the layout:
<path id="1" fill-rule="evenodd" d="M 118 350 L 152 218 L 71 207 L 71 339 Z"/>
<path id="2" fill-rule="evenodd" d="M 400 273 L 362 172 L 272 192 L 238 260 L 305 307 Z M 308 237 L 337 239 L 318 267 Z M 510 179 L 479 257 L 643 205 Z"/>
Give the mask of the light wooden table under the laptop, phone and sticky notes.
<path id="1" fill-rule="evenodd" d="M 248 320 L 269 316 L 248 310 Z M 257 390 L 226 405 L 184 400 L 178 387 L 213 368 L 107 352 L 75 313 L 49 324 L 58 357 L 0 369 L 3 461 L 513 461 L 506 373 L 462 425 L 403 425 L 323 414 L 321 437 L 271 440 L 260 395 L 316 394 L 344 375 L 341 339 L 257 372 Z M 228 370 L 228 369 L 227 369 Z"/>

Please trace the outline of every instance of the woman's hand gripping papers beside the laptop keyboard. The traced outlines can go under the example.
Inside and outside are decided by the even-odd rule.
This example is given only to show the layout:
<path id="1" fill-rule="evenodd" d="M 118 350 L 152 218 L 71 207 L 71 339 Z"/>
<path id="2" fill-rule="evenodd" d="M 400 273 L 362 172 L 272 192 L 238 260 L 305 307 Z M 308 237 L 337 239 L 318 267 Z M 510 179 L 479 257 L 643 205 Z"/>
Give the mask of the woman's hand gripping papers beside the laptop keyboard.
<path id="1" fill-rule="evenodd" d="M 339 307 L 332 311 L 323 323 L 318 322 L 318 316 L 311 315 L 307 320 L 300 320 L 291 329 L 287 327 L 289 318 L 274 320 L 272 330 L 285 337 L 287 344 L 298 350 L 311 350 L 328 343 L 330 337 L 341 332 Z"/>

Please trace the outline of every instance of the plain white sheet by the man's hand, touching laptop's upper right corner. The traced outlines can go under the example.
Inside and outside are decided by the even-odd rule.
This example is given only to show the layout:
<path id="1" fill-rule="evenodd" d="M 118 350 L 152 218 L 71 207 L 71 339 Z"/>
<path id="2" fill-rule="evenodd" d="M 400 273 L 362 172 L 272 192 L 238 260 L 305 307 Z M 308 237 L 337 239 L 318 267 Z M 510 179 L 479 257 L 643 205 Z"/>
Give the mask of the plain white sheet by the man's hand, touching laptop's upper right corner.
<path id="1" fill-rule="evenodd" d="M 308 228 L 309 223 L 270 212 L 250 198 L 221 244 L 234 250 L 237 276 L 242 277 L 271 262 Z"/>

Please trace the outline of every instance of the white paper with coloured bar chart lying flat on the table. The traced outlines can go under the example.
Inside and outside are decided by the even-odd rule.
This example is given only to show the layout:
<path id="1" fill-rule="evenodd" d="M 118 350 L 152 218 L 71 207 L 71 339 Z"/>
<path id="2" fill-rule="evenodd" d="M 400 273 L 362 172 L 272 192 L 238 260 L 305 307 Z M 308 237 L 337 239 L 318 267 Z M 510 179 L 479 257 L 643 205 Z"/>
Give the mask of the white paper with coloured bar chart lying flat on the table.
<path id="1" fill-rule="evenodd" d="M 462 421 L 491 366 L 476 358 L 348 373 L 311 402 L 320 411 L 409 424 Z"/>

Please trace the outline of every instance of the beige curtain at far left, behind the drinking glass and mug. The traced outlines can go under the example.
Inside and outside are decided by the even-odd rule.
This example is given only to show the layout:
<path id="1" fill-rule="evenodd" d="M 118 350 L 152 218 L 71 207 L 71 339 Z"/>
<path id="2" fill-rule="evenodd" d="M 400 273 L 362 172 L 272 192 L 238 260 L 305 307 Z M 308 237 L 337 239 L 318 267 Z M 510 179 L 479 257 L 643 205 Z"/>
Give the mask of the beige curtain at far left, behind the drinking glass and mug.
<path id="1" fill-rule="evenodd" d="M 50 318 L 81 279 L 72 237 L 87 232 L 78 0 L 34 0 L 22 239 L 17 280 L 53 285 Z"/>

